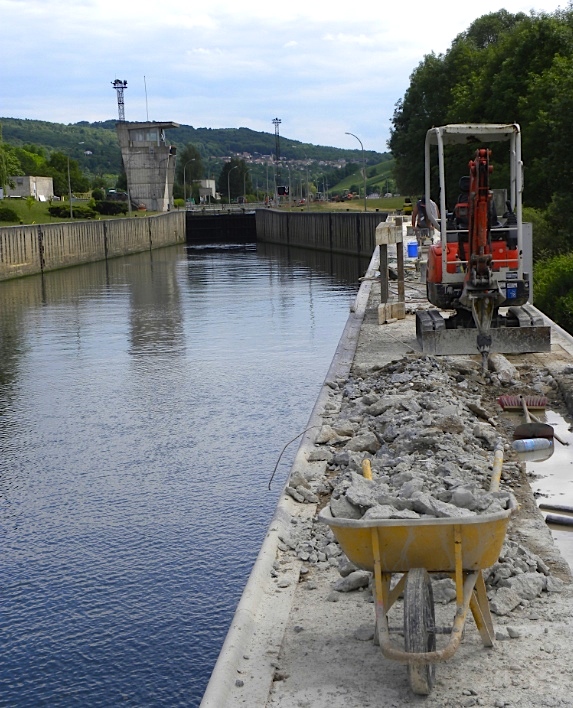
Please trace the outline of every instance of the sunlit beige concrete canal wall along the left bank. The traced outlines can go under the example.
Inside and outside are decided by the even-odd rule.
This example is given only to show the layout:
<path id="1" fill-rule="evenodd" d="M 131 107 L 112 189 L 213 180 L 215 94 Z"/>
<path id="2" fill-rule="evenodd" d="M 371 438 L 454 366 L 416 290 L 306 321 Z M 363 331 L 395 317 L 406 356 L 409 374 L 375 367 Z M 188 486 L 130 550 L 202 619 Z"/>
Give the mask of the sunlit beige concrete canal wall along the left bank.
<path id="1" fill-rule="evenodd" d="M 185 213 L 0 229 L 0 280 L 185 241 Z"/>

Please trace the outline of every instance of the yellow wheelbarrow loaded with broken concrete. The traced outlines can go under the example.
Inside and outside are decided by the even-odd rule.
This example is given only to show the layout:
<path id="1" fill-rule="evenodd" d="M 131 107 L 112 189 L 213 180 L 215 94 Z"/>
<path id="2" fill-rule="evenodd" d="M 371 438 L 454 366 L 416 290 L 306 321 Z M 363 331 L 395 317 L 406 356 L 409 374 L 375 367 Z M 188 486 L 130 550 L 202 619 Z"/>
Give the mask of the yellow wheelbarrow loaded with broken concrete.
<path id="1" fill-rule="evenodd" d="M 498 453 L 496 453 L 496 456 Z M 501 461 L 499 472 L 501 471 Z M 495 473 L 495 465 L 494 465 Z M 497 479 L 491 489 L 497 489 Z M 388 659 L 408 664 L 412 691 L 428 695 L 435 663 L 457 650 L 471 609 L 484 646 L 494 645 L 494 629 L 482 570 L 499 558 L 509 517 L 517 508 L 456 519 L 367 520 L 333 517 L 325 507 L 319 520 L 328 524 L 342 550 L 356 566 L 374 573 L 375 641 Z M 402 573 L 391 587 L 393 573 Z M 434 600 L 429 573 L 449 573 L 456 584 L 456 613 L 450 641 L 436 649 Z M 404 593 L 405 650 L 390 639 L 388 612 Z"/>

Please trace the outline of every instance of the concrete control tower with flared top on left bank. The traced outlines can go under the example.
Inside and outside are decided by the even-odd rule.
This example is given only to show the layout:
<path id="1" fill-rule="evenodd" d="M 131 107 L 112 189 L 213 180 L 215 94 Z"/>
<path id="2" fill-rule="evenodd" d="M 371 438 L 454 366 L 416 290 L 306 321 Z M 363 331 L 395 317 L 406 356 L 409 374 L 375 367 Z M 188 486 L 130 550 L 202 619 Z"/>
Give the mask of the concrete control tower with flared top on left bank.
<path id="1" fill-rule="evenodd" d="M 149 211 L 169 211 L 173 206 L 177 149 L 165 139 L 168 128 L 179 128 L 179 123 L 123 121 L 116 125 L 127 193 L 132 203 Z"/>

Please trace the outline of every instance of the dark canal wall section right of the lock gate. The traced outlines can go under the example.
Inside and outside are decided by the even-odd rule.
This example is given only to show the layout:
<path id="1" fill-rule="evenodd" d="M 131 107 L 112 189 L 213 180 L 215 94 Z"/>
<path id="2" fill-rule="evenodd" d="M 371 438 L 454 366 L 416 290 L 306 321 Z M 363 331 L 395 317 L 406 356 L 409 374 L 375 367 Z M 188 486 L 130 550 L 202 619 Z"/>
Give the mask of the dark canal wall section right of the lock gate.
<path id="1" fill-rule="evenodd" d="M 294 212 L 257 209 L 257 240 L 370 258 L 386 212 Z"/>

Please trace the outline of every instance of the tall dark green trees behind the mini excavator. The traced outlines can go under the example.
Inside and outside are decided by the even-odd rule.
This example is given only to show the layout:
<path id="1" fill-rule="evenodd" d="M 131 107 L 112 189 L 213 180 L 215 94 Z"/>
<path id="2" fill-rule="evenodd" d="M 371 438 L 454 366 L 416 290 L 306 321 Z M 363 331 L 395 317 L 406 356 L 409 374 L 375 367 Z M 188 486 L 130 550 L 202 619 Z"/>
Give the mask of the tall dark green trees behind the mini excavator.
<path id="1" fill-rule="evenodd" d="M 559 268 L 547 263 L 543 268 L 536 267 L 535 302 L 550 315 L 550 310 L 558 313 L 556 321 L 571 331 L 572 115 L 571 6 L 529 15 L 500 10 L 475 20 L 444 54 L 424 57 L 396 104 L 388 143 L 396 161 L 399 189 L 418 194 L 423 187 L 424 139 L 429 128 L 448 123 L 520 124 L 525 163 L 524 216 L 533 223 L 534 260 L 560 257 Z M 459 161 L 459 149 L 453 153 L 451 159 Z M 470 157 L 466 149 L 466 164 Z M 505 186 L 507 163 L 497 146 L 493 161 L 492 186 Z M 569 263 L 568 278 L 563 275 L 564 268 L 567 270 L 564 262 Z M 563 287 L 552 283 L 553 271 L 560 273 Z M 570 304 L 563 302 L 566 296 Z M 556 297 L 560 300 L 558 307 Z"/>

